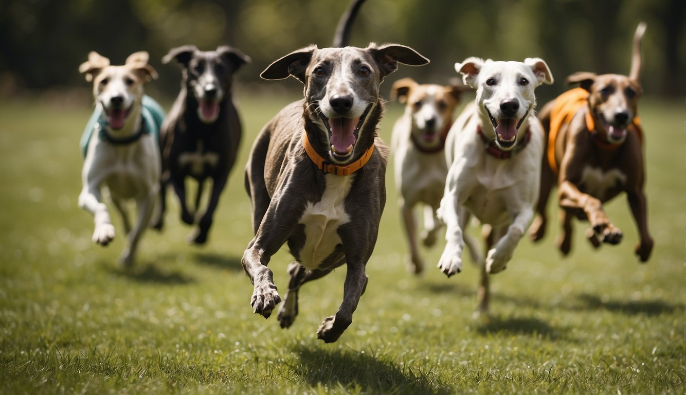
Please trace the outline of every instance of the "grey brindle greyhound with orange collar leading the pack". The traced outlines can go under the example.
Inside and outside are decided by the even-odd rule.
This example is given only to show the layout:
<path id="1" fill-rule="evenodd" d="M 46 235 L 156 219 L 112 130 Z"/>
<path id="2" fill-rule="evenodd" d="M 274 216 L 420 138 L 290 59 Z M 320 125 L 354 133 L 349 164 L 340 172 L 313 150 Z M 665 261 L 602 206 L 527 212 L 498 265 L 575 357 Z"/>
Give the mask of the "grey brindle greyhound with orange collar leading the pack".
<path id="1" fill-rule="evenodd" d="M 298 314 L 300 286 L 344 263 L 343 302 L 317 335 L 335 342 L 353 320 L 386 204 L 389 149 L 377 136 L 383 112 L 379 85 L 398 62 L 418 66 L 429 60 L 396 44 L 312 45 L 261 73 L 265 80 L 293 76 L 305 84 L 305 98 L 283 108 L 261 130 L 246 168 L 255 238 L 242 263 L 255 286 L 250 300 L 255 313 L 268 318 L 281 302 L 267 267 L 271 256 L 287 243 L 295 259 L 277 315 L 282 328 Z"/>

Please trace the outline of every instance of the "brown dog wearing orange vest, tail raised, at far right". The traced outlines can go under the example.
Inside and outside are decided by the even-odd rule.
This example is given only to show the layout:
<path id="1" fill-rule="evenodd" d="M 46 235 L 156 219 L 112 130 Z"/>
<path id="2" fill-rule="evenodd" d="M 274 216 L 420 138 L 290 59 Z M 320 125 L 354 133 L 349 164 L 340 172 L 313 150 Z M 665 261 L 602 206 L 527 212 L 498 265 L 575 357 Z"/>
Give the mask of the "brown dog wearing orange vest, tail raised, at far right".
<path id="1" fill-rule="evenodd" d="M 622 231 L 612 224 L 602 204 L 624 191 L 641 238 L 636 254 L 643 262 L 650 257 L 653 241 L 648 233 L 642 133 L 637 117 L 645 29 L 644 23 L 636 29 L 628 76 L 575 73 L 567 77 L 567 83 L 581 87 L 560 95 L 541 110 L 548 145 L 532 237 L 536 241 L 545 234 L 545 205 L 558 177 L 558 200 L 563 208 L 558 248 L 565 255 L 571 249 L 571 219 L 575 215 L 591 223 L 587 237 L 593 246 L 622 240 Z"/>

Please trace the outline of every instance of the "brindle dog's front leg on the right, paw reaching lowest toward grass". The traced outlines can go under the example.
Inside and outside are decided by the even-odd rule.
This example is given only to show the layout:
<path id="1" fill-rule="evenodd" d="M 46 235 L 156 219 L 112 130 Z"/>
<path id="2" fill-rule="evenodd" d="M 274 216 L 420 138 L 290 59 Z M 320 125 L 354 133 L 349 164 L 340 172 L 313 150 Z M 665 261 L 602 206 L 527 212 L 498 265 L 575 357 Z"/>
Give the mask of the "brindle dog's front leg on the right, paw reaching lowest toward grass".
<path id="1" fill-rule="evenodd" d="M 364 267 L 365 263 L 362 261 L 348 263 L 348 272 L 343 285 L 343 302 L 335 315 L 325 318 L 319 326 L 318 339 L 324 340 L 325 343 L 335 342 L 353 323 L 353 312 L 357 309 L 359 298 L 367 287 L 368 278 Z"/>

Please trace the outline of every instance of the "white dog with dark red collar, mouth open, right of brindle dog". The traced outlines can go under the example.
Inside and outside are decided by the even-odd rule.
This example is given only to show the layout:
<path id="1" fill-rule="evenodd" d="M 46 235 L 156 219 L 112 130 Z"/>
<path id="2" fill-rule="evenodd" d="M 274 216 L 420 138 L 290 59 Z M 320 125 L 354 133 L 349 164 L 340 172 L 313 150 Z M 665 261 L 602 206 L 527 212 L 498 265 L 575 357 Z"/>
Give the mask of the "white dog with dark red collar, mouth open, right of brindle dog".
<path id="1" fill-rule="evenodd" d="M 446 145 L 450 169 L 438 216 L 447 226 L 447 244 L 438 267 L 448 276 L 462 270 L 463 230 L 470 213 L 490 225 L 479 289 L 480 309 L 486 311 L 487 274 L 505 269 L 539 196 L 544 133 L 533 114 L 534 88 L 552 84 L 553 77 L 539 58 L 467 58 L 455 69 L 477 91 Z"/>

